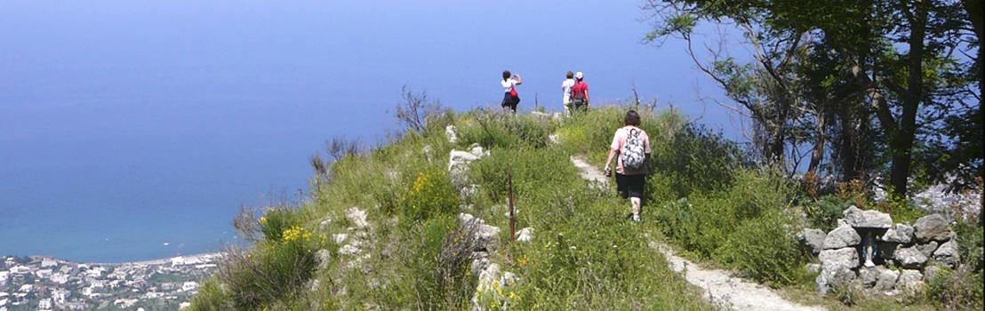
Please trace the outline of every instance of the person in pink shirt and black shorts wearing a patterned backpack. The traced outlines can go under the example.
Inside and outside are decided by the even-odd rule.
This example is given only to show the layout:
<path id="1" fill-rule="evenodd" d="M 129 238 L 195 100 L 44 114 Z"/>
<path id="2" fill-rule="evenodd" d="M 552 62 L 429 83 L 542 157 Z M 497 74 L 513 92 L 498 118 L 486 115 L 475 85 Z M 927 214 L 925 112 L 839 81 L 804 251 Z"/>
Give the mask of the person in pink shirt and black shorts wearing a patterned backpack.
<path id="1" fill-rule="evenodd" d="M 650 137 L 639 128 L 639 113 L 629 110 L 625 113 L 624 127 L 616 130 L 609 158 L 606 159 L 606 176 L 612 177 L 609 164 L 616 159 L 616 185 L 623 199 L 629 199 L 632 209 L 630 219 L 639 222 L 639 207 L 642 204 L 643 186 L 646 184 L 646 162 L 650 157 Z"/>

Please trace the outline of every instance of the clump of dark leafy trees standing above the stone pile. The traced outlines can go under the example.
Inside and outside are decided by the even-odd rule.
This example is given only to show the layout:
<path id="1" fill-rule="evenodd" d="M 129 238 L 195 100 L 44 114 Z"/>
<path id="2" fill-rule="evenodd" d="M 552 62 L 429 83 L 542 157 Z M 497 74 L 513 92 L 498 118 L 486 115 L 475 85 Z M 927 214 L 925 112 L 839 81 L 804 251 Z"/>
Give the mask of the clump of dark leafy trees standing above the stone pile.
<path id="1" fill-rule="evenodd" d="M 690 31 L 699 22 L 734 25 L 749 38 L 754 62 L 717 66 L 722 61 L 714 52 L 716 66 L 694 61 L 753 111 L 754 123 L 774 125 L 766 127 L 773 138 L 767 155 L 775 156 L 777 146 L 797 150 L 807 138 L 814 150 L 809 170 L 822 165 L 830 145 L 837 159 L 828 162 L 831 171 L 858 178 L 886 163 L 894 192 L 905 195 L 914 167 L 932 172 L 921 178 L 940 180 L 947 171 L 927 169 L 935 158 L 955 146 L 976 146 L 974 140 L 980 146 L 980 136 L 955 132 L 948 121 L 970 114 L 980 123 L 974 111 L 980 111 L 981 16 L 969 13 L 980 2 L 651 0 L 644 10 L 656 22 L 649 40 L 682 37 L 692 57 Z M 760 102 L 774 103 L 780 113 L 756 112 Z M 961 165 L 977 163 L 981 175 L 981 156 L 974 156 Z"/>

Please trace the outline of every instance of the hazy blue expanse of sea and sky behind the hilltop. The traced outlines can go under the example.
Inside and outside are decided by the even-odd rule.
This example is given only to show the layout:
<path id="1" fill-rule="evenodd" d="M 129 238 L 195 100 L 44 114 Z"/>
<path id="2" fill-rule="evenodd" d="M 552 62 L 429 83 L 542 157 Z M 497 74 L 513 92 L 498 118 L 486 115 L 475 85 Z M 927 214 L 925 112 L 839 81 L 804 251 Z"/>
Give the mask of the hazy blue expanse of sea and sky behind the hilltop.
<path id="1" fill-rule="evenodd" d="M 635 87 L 738 138 L 679 42 L 640 43 L 640 4 L 3 1 L 0 255 L 219 250 L 240 207 L 307 188 L 325 140 L 383 141 L 402 86 L 466 110 L 504 69 L 521 109 L 560 109 L 583 71 L 597 102 Z"/>

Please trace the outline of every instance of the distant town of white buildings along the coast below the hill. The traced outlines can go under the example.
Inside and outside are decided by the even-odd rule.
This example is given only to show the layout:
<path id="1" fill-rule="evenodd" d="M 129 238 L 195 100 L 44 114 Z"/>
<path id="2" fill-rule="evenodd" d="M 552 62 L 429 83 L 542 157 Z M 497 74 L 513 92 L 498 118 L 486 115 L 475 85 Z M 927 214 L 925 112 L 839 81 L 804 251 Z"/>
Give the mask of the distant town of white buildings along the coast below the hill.
<path id="1" fill-rule="evenodd" d="M 215 271 L 220 256 L 124 264 L 0 257 L 0 311 L 178 310 Z"/>

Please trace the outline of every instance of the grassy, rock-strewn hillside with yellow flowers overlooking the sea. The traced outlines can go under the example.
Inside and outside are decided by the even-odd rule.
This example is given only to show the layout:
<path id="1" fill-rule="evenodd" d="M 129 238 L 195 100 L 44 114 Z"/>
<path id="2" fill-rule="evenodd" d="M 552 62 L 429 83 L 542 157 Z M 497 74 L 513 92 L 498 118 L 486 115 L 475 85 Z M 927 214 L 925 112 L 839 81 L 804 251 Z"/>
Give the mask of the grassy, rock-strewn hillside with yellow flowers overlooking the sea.
<path id="1" fill-rule="evenodd" d="M 839 208 L 825 207 L 843 210 L 844 202 L 805 199 L 797 184 L 747 167 L 735 143 L 672 111 L 642 111 L 655 170 L 644 221 L 627 221 L 628 204 L 612 189 L 590 187 L 568 159 L 585 156 L 601 166 L 624 111 L 601 108 L 564 120 L 445 113 L 387 146 L 339 152 L 331 165 L 314 159 L 307 200 L 235 220 L 256 242 L 230 252 L 192 309 L 715 308 L 667 268 L 650 239 L 795 293 L 813 283 L 816 275 L 804 269 L 810 253 L 794 234 L 833 222 Z M 457 142 L 446 138 L 447 125 L 457 128 Z M 449 152 L 474 144 L 490 156 L 449 173 Z M 529 242 L 509 242 L 509 176 L 516 228 L 533 228 Z M 476 292 L 479 276 L 466 250 L 471 232 L 460 213 L 501 228 L 489 258 L 515 282 Z M 930 305 L 914 301 L 906 303 Z"/>

